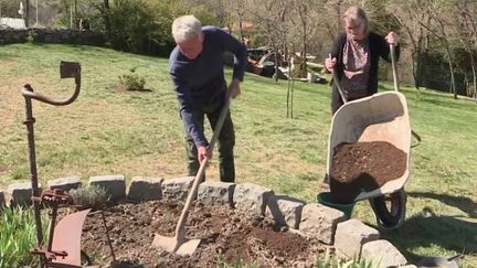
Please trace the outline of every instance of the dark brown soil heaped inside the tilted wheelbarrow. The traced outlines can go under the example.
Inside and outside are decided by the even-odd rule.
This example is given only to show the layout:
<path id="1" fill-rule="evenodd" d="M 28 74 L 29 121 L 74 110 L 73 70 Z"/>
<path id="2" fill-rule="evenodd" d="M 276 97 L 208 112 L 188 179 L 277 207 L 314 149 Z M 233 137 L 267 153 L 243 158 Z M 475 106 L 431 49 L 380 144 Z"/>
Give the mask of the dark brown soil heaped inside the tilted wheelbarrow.
<path id="1" fill-rule="evenodd" d="M 352 203 L 362 191 L 370 192 L 401 178 L 407 154 L 390 142 L 341 143 L 335 148 L 330 170 L 333 202 Z"/>

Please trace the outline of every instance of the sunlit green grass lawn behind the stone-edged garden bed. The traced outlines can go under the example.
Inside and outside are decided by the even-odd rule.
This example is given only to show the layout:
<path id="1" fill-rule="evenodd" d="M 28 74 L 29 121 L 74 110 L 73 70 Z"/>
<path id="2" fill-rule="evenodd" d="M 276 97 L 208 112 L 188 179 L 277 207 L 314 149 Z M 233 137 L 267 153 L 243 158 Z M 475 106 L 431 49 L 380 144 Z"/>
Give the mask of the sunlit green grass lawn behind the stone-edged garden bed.
<path id="1" fill-rule="evenodd" d="M 0 187 L 28 180 L 23 84 L 42 94 L 68 96 L 60 61 L 83 67 L 82 92 L 70 106 L 34 101 L 39 178 L 124 174 L 171 179 L 186 174 L 183 130 L 167 60 L 91 46 L 0 46 Z M 118 90 L 118 76 L 136 73 L 151 92 Z M 227 78 L 230 72 L 227 72 Z M 392 89 L 391 84 L 381 85 Z M 407 216 L 400 231 L 382 232 L 411 260 L 465 253 L 477 267 L 477 103 L 402 88 L 411 124 L 422 137 L 412 149 L 406 182 Z M 294 119 L 286 117 L 287 82 L 252 74 L 232 104 L 237 182 L 253 182 L 315 202 L 326 171 L 330 128 L 326 85 L 295 83 Z M 211 136 L 211 132 L 208 132 Z M 216 161 L 208 171 L 218 180 Z M 374 225 L 368 202 L 353 217 Z"/>

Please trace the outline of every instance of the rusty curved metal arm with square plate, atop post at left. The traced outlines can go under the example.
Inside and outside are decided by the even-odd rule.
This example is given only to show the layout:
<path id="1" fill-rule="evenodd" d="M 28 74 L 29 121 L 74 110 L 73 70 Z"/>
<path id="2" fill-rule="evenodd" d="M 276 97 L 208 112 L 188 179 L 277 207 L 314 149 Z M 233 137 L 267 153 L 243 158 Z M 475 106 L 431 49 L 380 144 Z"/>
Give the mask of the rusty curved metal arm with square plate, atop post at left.
<path id="1" fill-rule="evenodd" d="M 22 90 L 22 95 L 25 98 L 32 98 L 40 100 L 45 104 L 54 105 L 54 106 L 64 106 L 73 103 L 77 96 L 80 95 L 80 88 L 81 88 L 81 65 L 76 62 L 61 62 L 60 64 L 60 75 L 61 78 L 67 78 L 67 77 L 74 77 L 76 88 L 72 96 L 64 99 L 53 99 L 50 97 L 46 97 L 44 95 L 38 94 L 33 92 L 33 88 L 30 84 L 24 85 L 24 88 Z"/>

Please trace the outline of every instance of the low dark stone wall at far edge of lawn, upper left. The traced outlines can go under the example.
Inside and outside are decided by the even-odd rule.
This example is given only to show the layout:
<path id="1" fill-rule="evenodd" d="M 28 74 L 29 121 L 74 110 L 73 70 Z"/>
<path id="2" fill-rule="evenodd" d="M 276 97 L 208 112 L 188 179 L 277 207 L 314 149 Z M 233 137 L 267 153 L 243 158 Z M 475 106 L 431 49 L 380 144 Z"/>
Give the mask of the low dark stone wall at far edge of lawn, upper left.
<path id="1" fill-rule="evenodd" d="M 103 46 L 103 33 L 92 31 L 77 31 L 72 29 L 25 29 L 0 30 L 0 45 L 25 43 L 28 41 L 54 44 L 82 44 Z"/>

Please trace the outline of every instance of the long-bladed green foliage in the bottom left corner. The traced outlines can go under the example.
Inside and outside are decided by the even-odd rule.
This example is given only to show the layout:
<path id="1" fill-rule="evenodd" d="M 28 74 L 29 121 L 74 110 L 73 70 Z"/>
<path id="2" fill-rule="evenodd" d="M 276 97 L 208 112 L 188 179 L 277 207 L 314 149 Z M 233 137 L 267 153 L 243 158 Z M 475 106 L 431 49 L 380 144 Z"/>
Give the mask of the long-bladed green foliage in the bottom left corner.
<path id="1" fill-rule="evenodd" d="M 30 254 L 36 246 L 33 211 L 14 207 L 0 211 L 0 267 L 33 267 L 39 258 Z M 49 218 L 43 217 L 43 237 Z"/>

